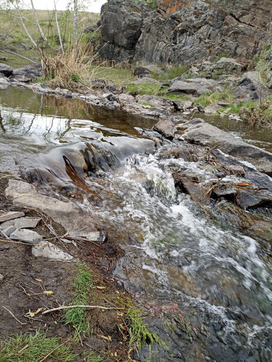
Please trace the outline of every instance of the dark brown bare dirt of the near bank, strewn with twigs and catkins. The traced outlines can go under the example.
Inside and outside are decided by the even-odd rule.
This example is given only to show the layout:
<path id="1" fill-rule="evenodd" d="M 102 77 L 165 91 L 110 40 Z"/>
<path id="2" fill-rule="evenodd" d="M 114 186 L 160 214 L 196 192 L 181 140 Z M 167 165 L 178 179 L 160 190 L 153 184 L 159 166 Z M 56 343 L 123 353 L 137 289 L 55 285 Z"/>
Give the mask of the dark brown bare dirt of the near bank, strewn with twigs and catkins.
<path id="1" fill-rule="evenodd" d="M 0 176 L 3 176 L 3 173 Z M 24 211 L 26 216 L 42 217 L 38 226 L 32 230 L 46 238 L 52 237 L 48 227 L 44 225 L 45 221 L 47 224 L 52 224 L 59 236 L 64 235 L 64 228 L 50 220 L 44 213 L 12 205 L 12 200 L 5 197 L 4 193 L 9 178 L 11 177 L 0 178 L 0 213 Z M 73 287 L 72 278 L 75 276 L 74 263 L 37 258 L 31 253 L 31 245 L 10 243 L 2 237 L 0 239 L 0 274 L 4 276 L 0 280 L 0 340 L 4 340 L 14 333 L 35 333 L 37 329 L 47 331 L 48 336 L 72 338 L 75 329 L 64 325 L 61 321 L 61 311 L 45 315 L 41 315 L 40 312 L 32 319 L 27 317 L 26 313 L 35 312 L 39 308 L 51 309 L 69 305 Z M 61 243 L 58 239 L 52 239 L 51 242 L 85 262 L 90 268 L 95 280 L 89 298 L 92 304 L 110 307 L 115 305 L 116 298 L 119 298 L 118 295 L 125 295 L 122 286 L 111 275 L 116 258 L 122 255 L 122 250 L 115 240 L 109 237 L 106 244 L 83 241 L 81 245 L 77 244 L 77 246 L 71 243 Z M 53 294 L 44 295 L 44 290 L 53 291 Z M 12 312 L 16 319 L 3 307 Z M 115 323 L 116 321 L 122 323 L 122 320 L 119 320 L 118 312 L 96 309 L 90 310 L 89 313 L 93 323 L 92 338 L 82 336 L 83 348 L 78 343 L 74 348 L 76 352 L 86 351 L 90 348 L 89 346 L 92 346 L 95 351 L 102 352 L 101 357 L 105 353 L 105 359 L 109 357 L 107 361 L 126 361 L 128 349 L 126 344 L 123 344 L 123 335 Z M 108 342 L 98 335 L 110 336 L 112 342 Z"/>

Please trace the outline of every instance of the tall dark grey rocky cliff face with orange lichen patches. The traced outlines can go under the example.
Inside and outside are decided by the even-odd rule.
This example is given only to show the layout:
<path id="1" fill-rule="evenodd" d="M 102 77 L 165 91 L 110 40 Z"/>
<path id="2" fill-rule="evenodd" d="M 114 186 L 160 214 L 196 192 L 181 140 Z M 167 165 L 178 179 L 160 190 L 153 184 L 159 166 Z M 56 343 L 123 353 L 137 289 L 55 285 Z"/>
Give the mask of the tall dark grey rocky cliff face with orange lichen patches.
<path id="1" fill-rule="evenodd" d="M 248 63 L 272 43 L 272 6 L 271 0 L 158 0 L 148 11 L 133 0 L 109 0 L 101 25 L 106 59 L 180 64 L 228 53 Z"/>

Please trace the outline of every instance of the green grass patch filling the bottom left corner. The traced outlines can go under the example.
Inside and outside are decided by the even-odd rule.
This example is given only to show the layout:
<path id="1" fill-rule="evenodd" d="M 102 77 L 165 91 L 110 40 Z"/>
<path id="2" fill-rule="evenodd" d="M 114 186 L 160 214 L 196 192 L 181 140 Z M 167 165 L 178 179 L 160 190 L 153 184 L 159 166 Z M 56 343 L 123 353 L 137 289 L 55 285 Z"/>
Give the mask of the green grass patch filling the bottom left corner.
<path id="1" fill-rule="evenodd" d="M 47 337 L 46 332 L 37 331 L 34 336 L 30 333 L 16 333 L 1 342 L 0 362 L 40 361 L 62 342 L 60 337 Z M 57 348 L 46 361 L 72 362 L 77 358 L 78 355 L 71 349 L 71 343 L 67 343 Z"/>

